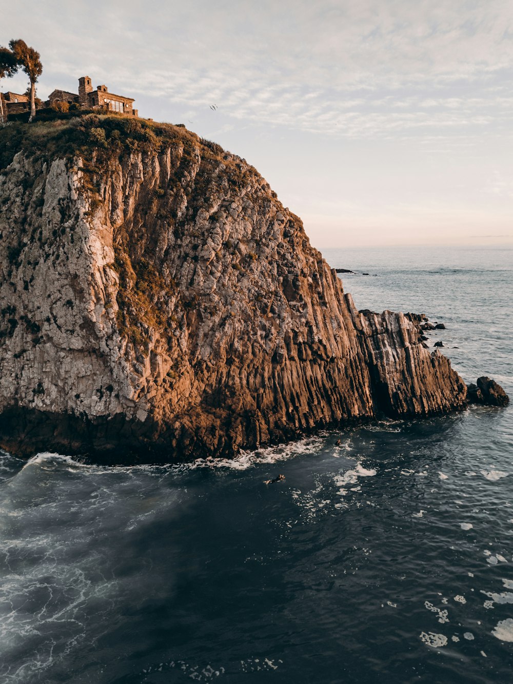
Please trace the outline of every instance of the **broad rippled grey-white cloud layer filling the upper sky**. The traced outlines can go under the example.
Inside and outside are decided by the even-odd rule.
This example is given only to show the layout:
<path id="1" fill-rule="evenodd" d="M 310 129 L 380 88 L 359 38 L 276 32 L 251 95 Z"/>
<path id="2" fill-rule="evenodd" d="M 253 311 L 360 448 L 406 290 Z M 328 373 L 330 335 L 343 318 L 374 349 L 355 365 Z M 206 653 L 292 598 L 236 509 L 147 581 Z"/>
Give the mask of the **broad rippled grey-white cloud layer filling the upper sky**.
<path id="1" fill-rule="evenodd" d="M 239 122 L 379 137 L 503 127 L 512 100 L 488 91 L 511 81 L 512 23 L 502 0 L 21 0 L 4 32 L 42 53 L 42 94 L 115 75 L 143 108 L 215 102 Z"/>

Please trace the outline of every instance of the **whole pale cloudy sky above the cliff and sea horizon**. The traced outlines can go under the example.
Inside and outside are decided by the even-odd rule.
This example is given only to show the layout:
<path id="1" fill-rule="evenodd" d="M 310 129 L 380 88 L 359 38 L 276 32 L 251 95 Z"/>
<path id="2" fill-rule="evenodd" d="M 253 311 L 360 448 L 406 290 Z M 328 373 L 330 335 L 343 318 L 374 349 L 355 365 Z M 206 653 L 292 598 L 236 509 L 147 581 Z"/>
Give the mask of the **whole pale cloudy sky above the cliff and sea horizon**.
<path id="1" fill-rule="evenodd" d="M 88 75 L 244 157 L 317 248 L 513 243 L 511 0 L 17 0 L 11 38 L 41 98 Z"/>

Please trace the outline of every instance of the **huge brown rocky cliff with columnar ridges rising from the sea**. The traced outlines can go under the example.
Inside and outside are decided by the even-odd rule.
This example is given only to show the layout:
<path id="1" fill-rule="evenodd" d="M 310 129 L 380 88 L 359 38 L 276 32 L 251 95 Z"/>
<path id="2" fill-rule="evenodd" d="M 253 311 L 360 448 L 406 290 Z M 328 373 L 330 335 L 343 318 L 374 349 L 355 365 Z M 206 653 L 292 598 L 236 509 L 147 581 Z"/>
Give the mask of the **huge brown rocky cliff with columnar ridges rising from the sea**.
<path id="1" fill-rule="evenodd" d="M 180 127 L 39 125 L 0 171 L 5 449 L 171 461 L 466 404 L 244 159 Z"/>

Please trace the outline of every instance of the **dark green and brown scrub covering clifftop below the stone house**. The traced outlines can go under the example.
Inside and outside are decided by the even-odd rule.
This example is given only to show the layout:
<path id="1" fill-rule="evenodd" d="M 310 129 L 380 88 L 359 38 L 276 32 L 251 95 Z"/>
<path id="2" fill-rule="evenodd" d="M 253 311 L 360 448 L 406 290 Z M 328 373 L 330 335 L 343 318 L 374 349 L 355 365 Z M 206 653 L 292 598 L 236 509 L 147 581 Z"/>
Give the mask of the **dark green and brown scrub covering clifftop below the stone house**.
<path id="1" fill-rule="evenodd" d="M 44 110 L 43 110 L 44 111 Z M 121 154 L 131 150 L 156 151 L 170 144 L 202 144 L 209 155 L 223 159 L 218 144 L 202 140 L 183 126 L 94 112 L 40 115 L 28 124 L 12 121 L 0 128 L 0 173 L 23 151 L 44 161 L 54 157 L 89 157 L 93 150 Z"/>

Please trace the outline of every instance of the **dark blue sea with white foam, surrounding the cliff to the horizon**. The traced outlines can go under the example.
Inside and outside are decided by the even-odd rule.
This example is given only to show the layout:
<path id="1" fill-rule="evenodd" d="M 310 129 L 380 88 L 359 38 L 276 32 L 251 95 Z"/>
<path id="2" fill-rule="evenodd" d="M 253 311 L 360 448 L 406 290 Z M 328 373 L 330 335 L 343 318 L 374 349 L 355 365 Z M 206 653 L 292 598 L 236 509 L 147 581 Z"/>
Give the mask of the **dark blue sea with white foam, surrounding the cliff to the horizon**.
<path id="1" fill-rule="evenodd" d="M 358 307 L 444 321 L 431 344 L 465 380 L 513 394 L 510 250 L 326 257 L 378 274 L 345 276 Z M 2 683 L 513 679 L 512 408 L 233 464 L 0 474 Z"/>

